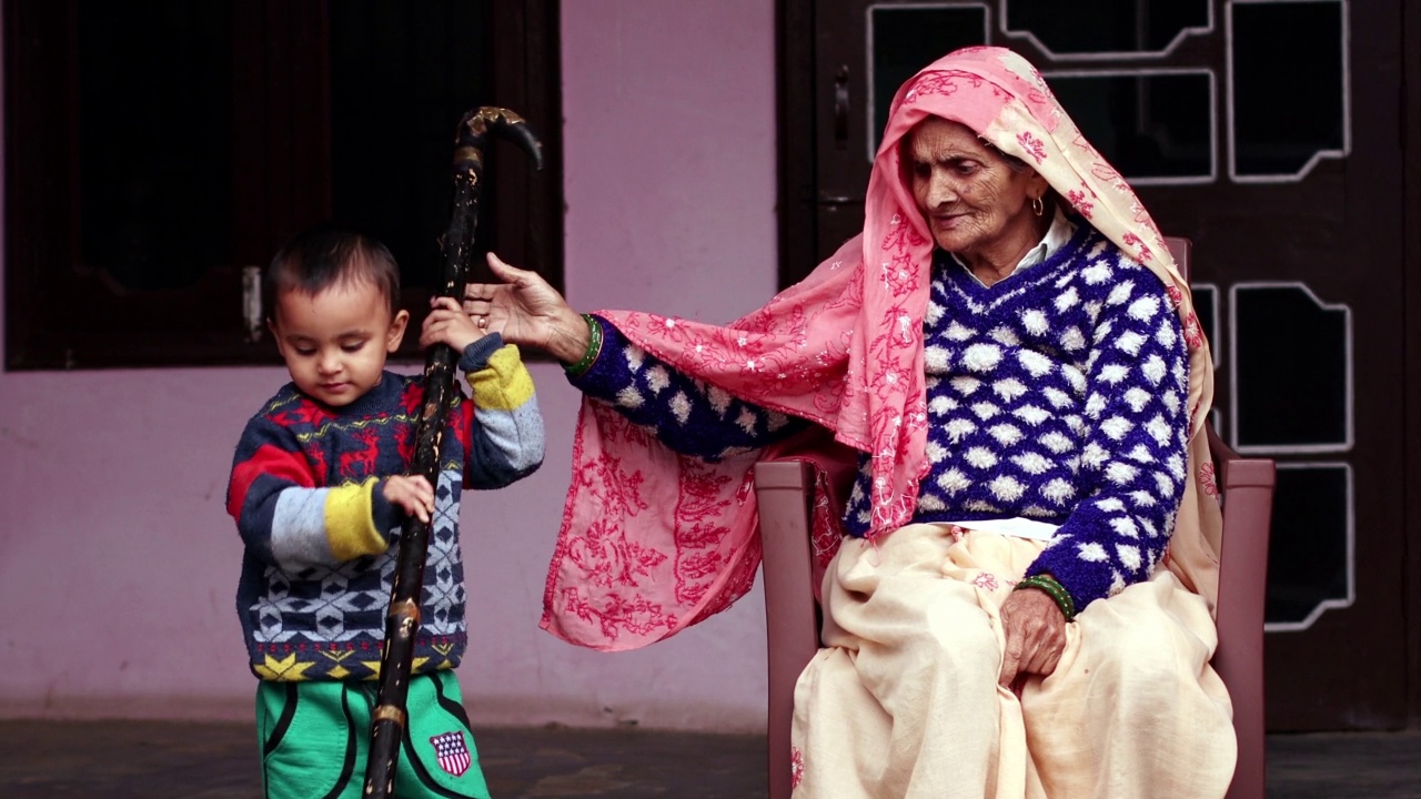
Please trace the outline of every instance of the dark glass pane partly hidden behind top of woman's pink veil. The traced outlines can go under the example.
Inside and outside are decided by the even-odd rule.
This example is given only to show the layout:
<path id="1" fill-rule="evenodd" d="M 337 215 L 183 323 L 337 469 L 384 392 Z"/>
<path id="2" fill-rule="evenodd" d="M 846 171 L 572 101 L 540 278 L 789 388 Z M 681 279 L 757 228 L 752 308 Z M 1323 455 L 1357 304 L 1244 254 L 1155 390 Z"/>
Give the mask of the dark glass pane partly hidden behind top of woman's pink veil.
<path id="1" fill-rule="evenodd" d="M 918 70 L 959 47 L 986 44 L 983 6 L 871 6 L 868 9 L 868 161 L 874 159 L 888 107 Z"/>

